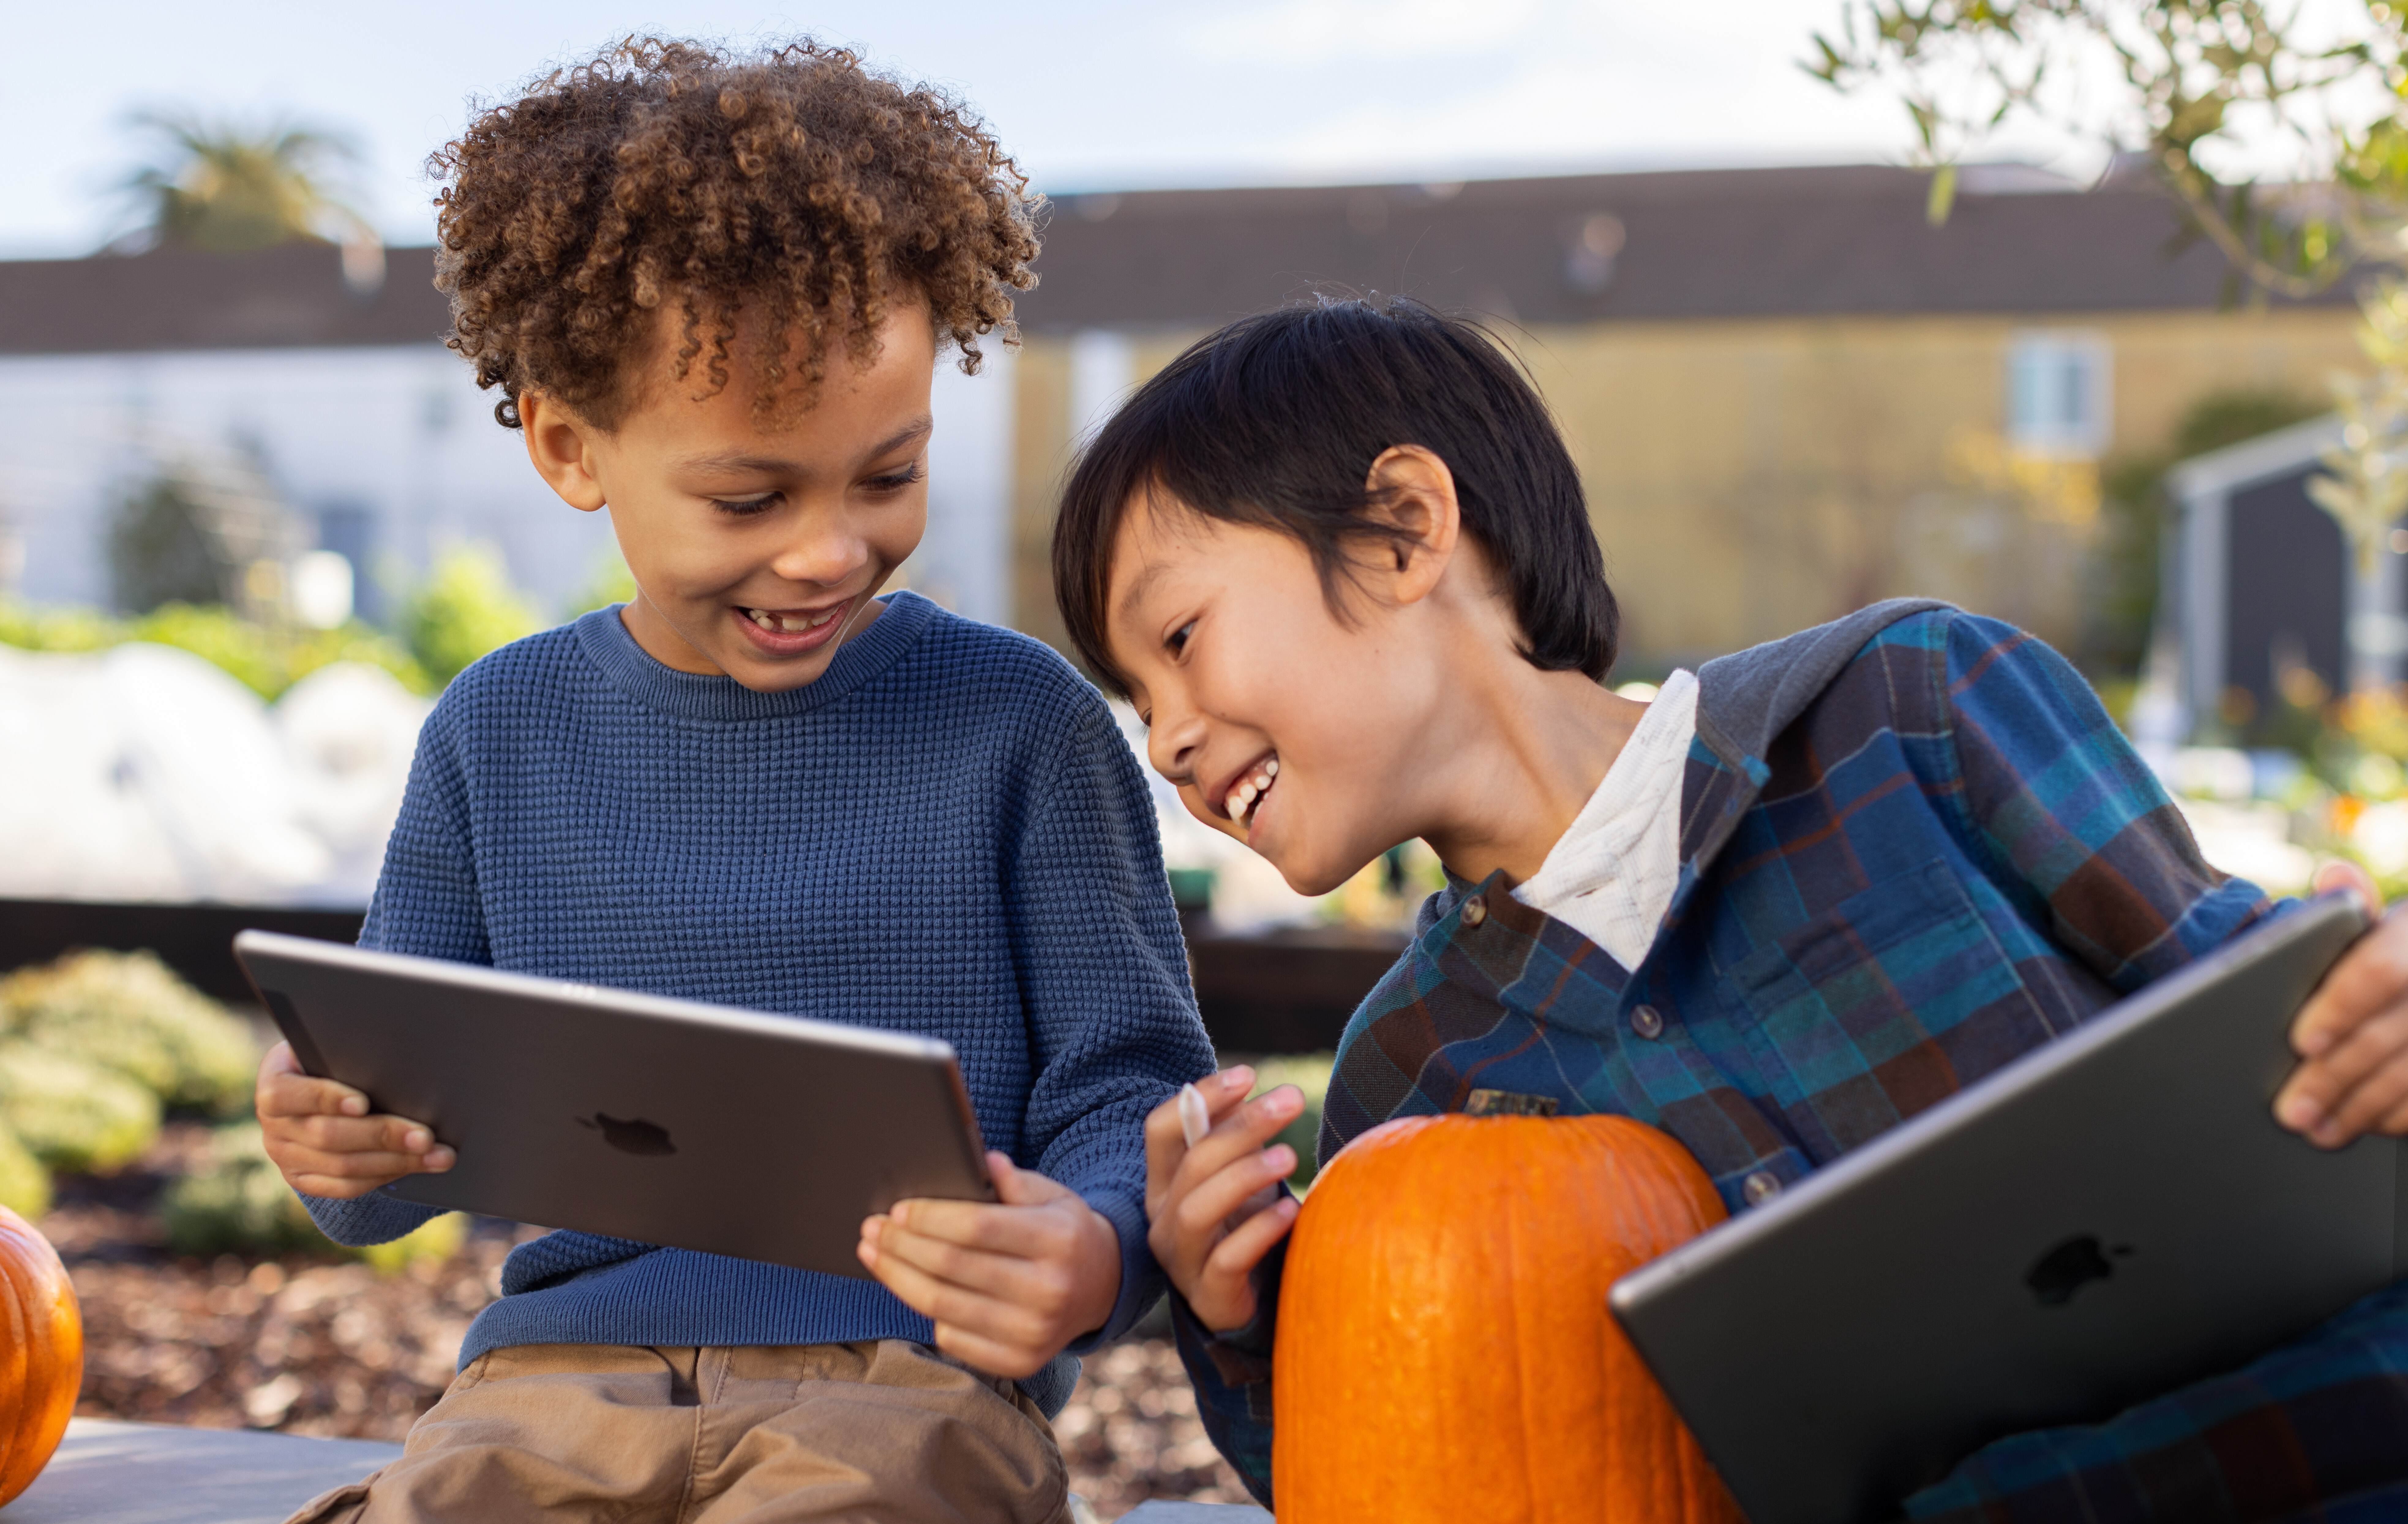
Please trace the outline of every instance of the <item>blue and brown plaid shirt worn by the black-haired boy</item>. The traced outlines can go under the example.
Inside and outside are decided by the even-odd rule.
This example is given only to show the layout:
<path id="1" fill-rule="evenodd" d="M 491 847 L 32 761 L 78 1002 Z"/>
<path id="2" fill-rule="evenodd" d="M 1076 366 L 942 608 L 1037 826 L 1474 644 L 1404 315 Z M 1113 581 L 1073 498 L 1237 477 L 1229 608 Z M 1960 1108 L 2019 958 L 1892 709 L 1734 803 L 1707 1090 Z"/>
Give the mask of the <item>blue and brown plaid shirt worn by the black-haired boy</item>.
<path id="1" fill-rule="evenodd" d="M 1510 1091 L 1666 1129 L 1746 1211 L 2268 910 L 2064 657 L 1883 604 L 1700 672 L 1681 881 L 1635 970 L 1503 879 L 1433 896 L 1346 1026 L 1320 1153 Z M 1206 1430 L 1264 1502 L 1281 1262 L 1245 1329 L 1173 1298 Z M 2001 1440 L 1907 1514 L 2408 1519 L 2408 1283 L 2105 1425 Z"/>

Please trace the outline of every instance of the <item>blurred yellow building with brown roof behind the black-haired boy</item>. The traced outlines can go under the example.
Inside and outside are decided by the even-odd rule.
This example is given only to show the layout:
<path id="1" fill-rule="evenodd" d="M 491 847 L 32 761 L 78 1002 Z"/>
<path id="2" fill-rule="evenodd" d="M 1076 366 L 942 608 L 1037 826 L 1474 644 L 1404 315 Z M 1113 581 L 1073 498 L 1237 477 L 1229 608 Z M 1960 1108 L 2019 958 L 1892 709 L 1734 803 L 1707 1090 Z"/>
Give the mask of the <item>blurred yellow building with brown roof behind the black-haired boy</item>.
<path id="1" fill-rule="evenodd" d="M 2355 306 L 2235 306 L 2146 181 L 1967 169 L 1565 176 L 1067 197 L 1021 303 L 1014 612 L 1060 638 L 1045 539 L 1072 441 L 1216 323 L 1312 289 L 1493 320 L 1589 489 L 1625 667 L 1893 592 L 2071 643 L 2097 467 L 2201 397 L 2321 395 Z"/>

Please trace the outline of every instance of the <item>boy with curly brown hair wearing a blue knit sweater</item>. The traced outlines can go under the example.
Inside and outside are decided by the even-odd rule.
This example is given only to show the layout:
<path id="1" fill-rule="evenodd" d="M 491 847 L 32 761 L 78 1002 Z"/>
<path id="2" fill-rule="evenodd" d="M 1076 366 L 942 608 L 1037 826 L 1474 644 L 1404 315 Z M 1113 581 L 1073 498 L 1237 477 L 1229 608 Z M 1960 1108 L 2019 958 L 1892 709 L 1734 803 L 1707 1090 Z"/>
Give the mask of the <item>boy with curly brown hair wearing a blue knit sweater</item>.
<path id="1" fill-rule="evenodd" d="M 877 1281 L 520 1245 L 402 1459 L 299 1519 L 1067 1519 L 1064 1351 L 1158 1295 L 1141 1124 L 1211 1047 L 1100 696 L 879 597 L 937 356 L 1033 284 L 1026 181 L 811 43 L 628 43 L 436 166 L 450 344 L 638 592 L 450 684 L 361 944 L 944 1038 L 999 1204 L 872 1218 Z M 431 1216 L 376 1194 L 450 1168 L 426 1127 L 282 1047 L 258 1110 L 335 1240 Z"/>

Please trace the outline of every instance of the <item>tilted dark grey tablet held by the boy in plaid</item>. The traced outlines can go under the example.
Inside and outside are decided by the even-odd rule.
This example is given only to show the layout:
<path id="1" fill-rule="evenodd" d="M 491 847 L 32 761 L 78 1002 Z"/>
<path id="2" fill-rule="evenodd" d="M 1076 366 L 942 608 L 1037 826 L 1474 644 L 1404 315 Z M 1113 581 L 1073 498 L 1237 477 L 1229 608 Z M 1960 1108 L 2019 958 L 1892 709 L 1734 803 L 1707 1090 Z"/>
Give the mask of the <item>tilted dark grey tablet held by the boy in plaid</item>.
<path id="1" fill-rule="evenodd" d="M 1893 1517 L 1984 1442 L 2230 1370 L 2408 1274 L 2403 1144 L 2271 1112 L 2365 927 L 2316 900 L 1625 1276 L 1753 1524 Z"/>

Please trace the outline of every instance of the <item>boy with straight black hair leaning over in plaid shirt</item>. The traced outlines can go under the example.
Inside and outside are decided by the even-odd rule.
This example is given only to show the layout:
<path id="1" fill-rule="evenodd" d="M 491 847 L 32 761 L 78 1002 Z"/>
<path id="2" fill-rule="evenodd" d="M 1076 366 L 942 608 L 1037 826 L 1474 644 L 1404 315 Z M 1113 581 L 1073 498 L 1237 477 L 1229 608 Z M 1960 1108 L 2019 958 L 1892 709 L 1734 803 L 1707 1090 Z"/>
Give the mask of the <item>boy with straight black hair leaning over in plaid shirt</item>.
<path id="1" fill-rule="evenodd" d="M 1339 1042 L 1324 1160 L 1503 1095 L 1662 1127 L 1739 1213 L 2280 912 L 2199 857 L 2056 652 L 1946 604 L 1676 672 L 1645 705 L 1606 691 L 1613 595 L 1546 407 L 1406 301 L 1247 318 L 1141 385 L 1069 484 L 1055 585 L 1197 819 L 1305 893 L 1416 835 L 1447 867 Z M 2374 898 L 2355 869 L 2326 884 Z M 2300 1014 L 2288 1127 L 2408 1132 L 2403 997 L 2391 920 Z M 1146 1204 L 1206 1425 L 1269 1500 L 1296 1158 L 1264 1144 L 1300 1098 L 1250 1086 L 1204 1081 L 1194 1146 L 1156 1110 Z M 2408 1510 L 2408 1283 L 2107 1425 L 1991 1445 L 1910 1512 L 2345 1500 Z"/>

